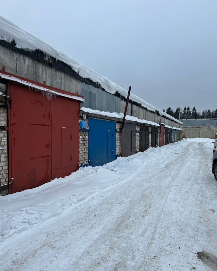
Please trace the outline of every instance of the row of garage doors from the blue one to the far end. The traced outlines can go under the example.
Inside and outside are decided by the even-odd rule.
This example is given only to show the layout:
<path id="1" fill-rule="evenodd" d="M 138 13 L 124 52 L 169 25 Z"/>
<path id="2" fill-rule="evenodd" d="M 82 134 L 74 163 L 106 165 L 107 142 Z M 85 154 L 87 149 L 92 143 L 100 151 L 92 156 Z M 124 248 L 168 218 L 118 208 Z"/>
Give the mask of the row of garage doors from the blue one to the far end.
<path id="1" fill-rule="evenodd" d="M 146 151 L 149 147 L 163 146 L 180 140 L 180 130 L 169 129 L 164 125 L 124 123 L 121 131 L 117 130 L 115 121 L 96 118 L 88 118 L 88 131 L 88 164 L 91 166 L 104 165 L 115 160 L 117 156 L 127 157 L 138 151 Z M 121 134 L 120 143 L 116 140 L 116 134 Z M 139 141 L 137 142 L 137 140 Z M 121 153 L 116 152 L 116 144 L 121 145 Z"/>

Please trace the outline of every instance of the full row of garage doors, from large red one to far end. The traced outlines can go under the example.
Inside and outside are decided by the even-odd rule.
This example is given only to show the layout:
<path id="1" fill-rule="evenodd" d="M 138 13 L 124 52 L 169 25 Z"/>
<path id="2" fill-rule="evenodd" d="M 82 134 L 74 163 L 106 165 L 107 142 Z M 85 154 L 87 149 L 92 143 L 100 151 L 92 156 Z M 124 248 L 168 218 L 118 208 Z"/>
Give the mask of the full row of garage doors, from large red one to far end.
<path id="1" fill-rule="evenodd" d="M 180 131 L 158 123 L 124 123 L 121 131 L 121 120 L 88 117 L 86 128 L 79 129 L 80 95 L 55 89 L 53 97 L 46 86 L 39 91 L 42 85 L 36 82 L 33 85 L 3 71 L 0 76 L 8 89 L 8 109 L 4 109 L 8 115 L 8 146 L 4 148 L 8 149 L 11 193 L 67 176 L 84 165 L 104 165 L 118 156 L 180 139 Z M 86 145 L 82 149 L 79 137 L 83 136 Z M 82 155 L 87 158 L 85 162 Z"/>

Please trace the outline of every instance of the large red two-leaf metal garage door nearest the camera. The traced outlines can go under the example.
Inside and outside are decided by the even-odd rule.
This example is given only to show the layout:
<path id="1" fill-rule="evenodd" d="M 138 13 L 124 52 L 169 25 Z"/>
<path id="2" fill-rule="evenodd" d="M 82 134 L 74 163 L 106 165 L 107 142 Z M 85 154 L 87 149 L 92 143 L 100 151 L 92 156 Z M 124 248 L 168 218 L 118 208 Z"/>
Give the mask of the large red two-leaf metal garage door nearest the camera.
<path id="1" fill-rule="evenodd" d="M 9 86 L 9 95 L 10 193 L 77 170 L 79 101 L 60 97 L 49 101 L 41 93 L 15 84 Z"/>

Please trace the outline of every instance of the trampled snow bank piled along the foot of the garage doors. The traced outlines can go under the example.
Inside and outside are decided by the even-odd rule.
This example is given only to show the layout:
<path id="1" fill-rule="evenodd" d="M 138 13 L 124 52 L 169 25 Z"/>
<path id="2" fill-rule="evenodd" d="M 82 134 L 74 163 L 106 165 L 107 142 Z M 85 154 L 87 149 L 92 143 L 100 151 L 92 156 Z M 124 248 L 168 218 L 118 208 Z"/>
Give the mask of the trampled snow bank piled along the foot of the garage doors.
<path id="1" fill-rule="evenodd" d="M 149 148 L 130 157 L 118 157 L 104 166 L 81 168 L 65 178 L 0 197 L 0 241 L 43 220 L 77 210 L 87 200 L 103 197 L 141 167 L 147 168 L 152 160 L 173 151 L 174 144 Z"/>

